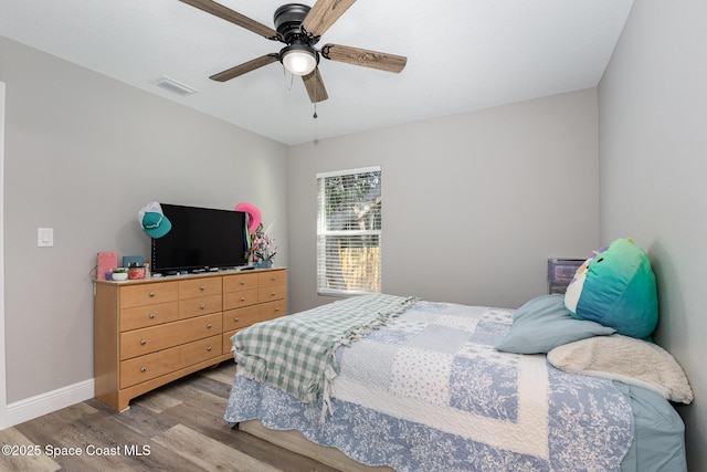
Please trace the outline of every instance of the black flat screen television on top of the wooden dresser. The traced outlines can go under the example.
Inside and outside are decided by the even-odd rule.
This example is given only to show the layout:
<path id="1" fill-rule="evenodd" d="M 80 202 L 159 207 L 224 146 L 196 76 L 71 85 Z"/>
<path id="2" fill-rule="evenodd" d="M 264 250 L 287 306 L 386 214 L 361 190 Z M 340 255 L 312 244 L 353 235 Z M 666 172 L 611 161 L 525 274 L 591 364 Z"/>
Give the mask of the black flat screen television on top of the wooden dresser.
<path id="1" fill-rule="evenodd" d="M 203 272 L 247 264 L 245 213 L 160 203 L 172 229 L 152 239 L 152 272 Z"/>

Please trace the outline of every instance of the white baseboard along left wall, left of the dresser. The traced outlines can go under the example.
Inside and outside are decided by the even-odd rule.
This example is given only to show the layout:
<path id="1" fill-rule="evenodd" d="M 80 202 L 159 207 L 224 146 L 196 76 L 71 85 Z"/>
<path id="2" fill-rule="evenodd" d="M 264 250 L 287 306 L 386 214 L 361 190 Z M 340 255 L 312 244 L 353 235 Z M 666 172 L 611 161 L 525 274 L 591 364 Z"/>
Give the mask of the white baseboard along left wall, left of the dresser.
<path id="1" fill-rule="evenodd" d="M 95 396 L 94 379 L 80 381 L 8 405 L 8 427 L 71 407 Z"/>

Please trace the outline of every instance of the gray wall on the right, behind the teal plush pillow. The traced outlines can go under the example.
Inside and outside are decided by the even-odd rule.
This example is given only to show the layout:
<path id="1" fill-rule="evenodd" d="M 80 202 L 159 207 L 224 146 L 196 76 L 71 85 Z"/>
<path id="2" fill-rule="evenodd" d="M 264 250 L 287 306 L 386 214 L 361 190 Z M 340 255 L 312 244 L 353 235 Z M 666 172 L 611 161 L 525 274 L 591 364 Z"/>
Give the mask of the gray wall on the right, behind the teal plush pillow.
<path id="1" fill-rule="evenodd" d="M 630 235 L 657 276 L 656 340 L 685 369 L 690 471 L 707 470 L 707 3 L 637 1 L 599 87 L 601 239 Z"/>

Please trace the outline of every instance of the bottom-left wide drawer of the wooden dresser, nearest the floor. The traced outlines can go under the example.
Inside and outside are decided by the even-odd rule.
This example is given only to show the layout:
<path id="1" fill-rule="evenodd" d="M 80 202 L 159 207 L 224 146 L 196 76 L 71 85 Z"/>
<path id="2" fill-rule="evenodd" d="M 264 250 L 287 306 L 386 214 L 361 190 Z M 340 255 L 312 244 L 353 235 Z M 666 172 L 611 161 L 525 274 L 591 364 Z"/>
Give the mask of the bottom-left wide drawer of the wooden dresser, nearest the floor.
<path id="1" fill-rule="evenodd" d="M 127 388 L 154 379 L 183 367 L 221 356 L 222 335 L 120 363 L 120 388 Z"/>

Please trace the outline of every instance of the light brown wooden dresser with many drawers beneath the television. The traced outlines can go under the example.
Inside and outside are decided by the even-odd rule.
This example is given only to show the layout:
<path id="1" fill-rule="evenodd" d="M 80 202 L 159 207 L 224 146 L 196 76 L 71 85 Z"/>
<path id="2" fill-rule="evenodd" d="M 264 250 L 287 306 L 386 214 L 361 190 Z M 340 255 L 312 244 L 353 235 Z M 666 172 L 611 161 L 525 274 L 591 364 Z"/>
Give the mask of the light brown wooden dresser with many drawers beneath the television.
<path id="1" fill-rule="evenodd" d="M 95 395 L 116 410 L 169 381 L 233 359 L 231 336 L 282 316 L 285 269 L 95 282 Z"/>

